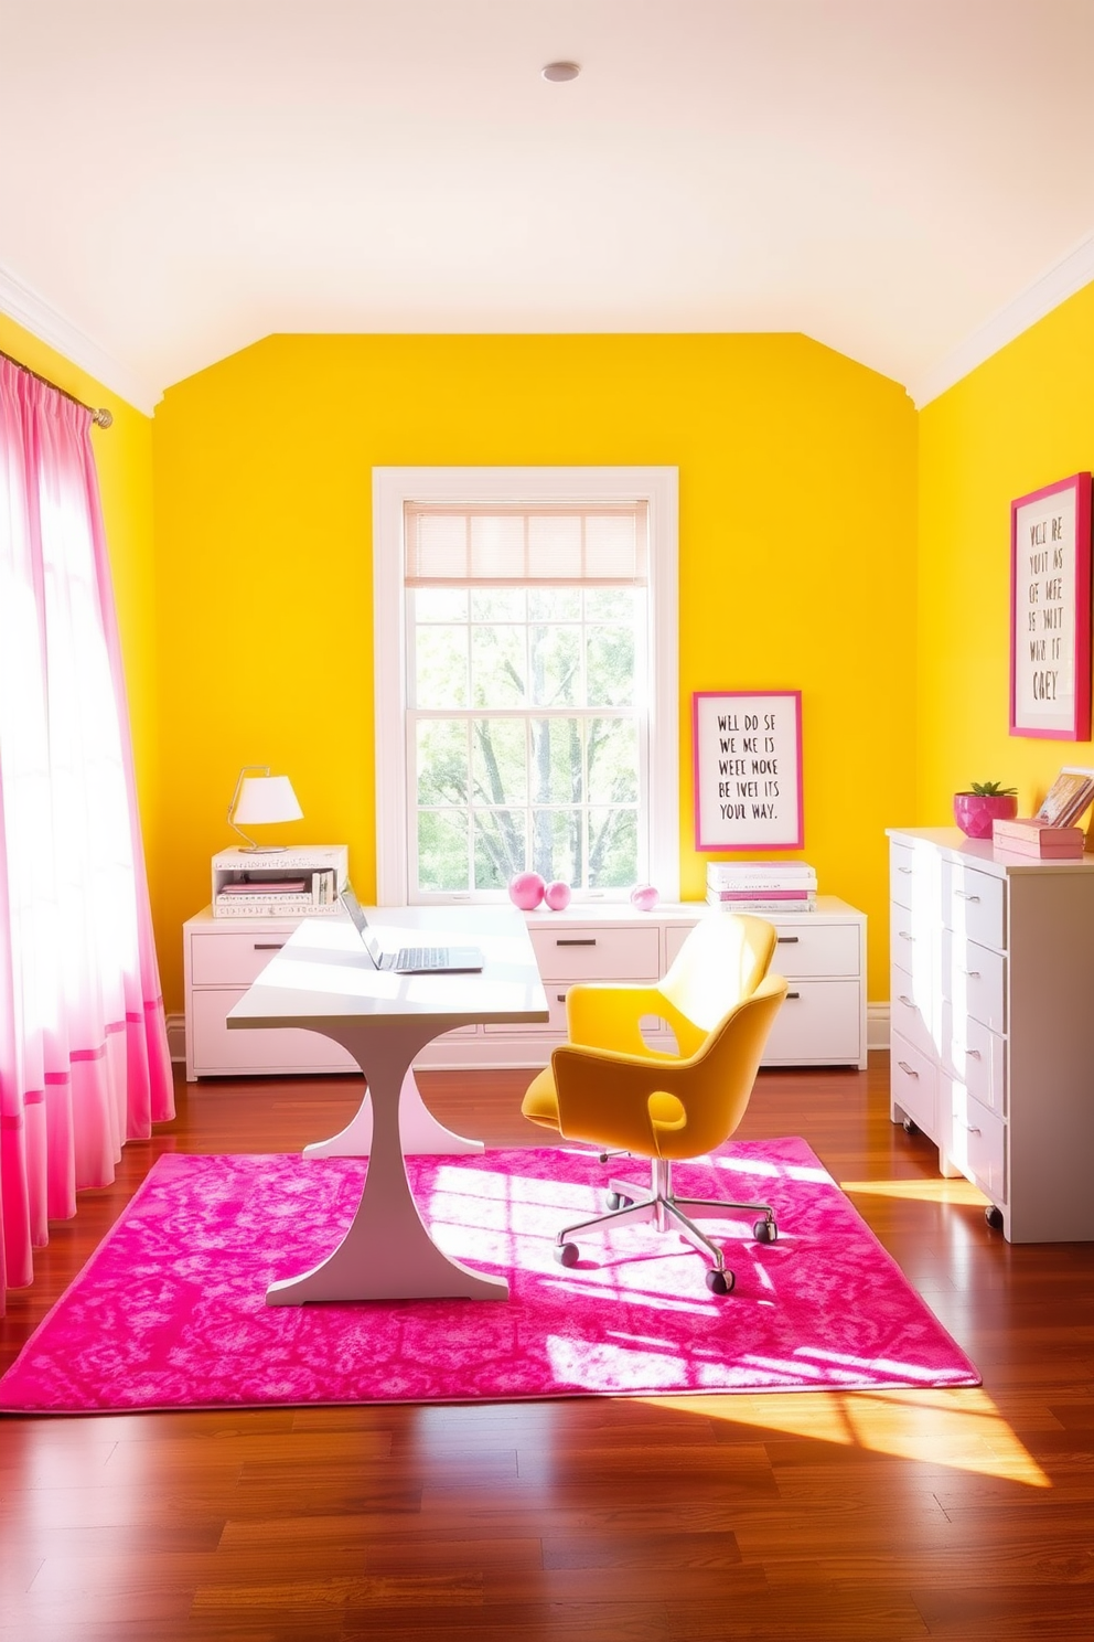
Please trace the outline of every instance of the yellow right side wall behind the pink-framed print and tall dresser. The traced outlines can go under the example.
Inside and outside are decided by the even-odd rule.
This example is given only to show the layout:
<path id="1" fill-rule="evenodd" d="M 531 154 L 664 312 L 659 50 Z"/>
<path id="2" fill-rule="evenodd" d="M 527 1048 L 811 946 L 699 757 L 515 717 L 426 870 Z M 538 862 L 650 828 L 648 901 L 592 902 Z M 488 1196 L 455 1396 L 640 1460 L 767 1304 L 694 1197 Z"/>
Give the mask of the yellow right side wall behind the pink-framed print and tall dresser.
<path id="1" fill-rule="evenodd" d="M 1094 286 L 1032 325 L 920 414 L 915 819 L 953 821 L 973 782 L 1032 814 L 1094 744 L 1009 734 L 1010 502 L 1094 468 Z"/>

